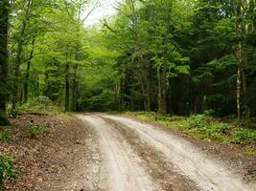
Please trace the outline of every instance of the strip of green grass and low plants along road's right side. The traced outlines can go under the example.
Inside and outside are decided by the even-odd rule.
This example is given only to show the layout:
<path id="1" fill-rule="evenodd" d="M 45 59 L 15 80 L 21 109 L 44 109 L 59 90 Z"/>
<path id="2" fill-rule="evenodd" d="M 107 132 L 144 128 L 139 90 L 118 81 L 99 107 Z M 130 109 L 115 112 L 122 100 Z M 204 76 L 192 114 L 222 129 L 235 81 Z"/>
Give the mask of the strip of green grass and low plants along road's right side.
<path id="1" fill-rule="evenodd" d="M 186 135 L 201 139 L 252 145 L 252 148 L 244 151 L 244 153 L 256 156 L 255 130 L 240 128 L 232 126 L 229 123 L 221 122 L 217 118 L 211 117 L 209 113 L 193 115 L 191 117 L 170 117 L 147 112 L 127 112 L 123 115 L 136 117 L 147 122 L 156 122 L 171 129 L 179 130 Z"/>

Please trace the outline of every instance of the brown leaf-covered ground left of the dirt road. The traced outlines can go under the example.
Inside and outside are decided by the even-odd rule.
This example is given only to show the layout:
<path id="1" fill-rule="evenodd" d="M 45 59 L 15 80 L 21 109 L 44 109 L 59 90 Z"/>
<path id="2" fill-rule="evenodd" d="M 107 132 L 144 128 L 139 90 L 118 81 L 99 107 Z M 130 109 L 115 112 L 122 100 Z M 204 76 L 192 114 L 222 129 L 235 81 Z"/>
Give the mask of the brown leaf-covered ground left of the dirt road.
<path id="1" fill-rule="evenodd" d="M 50 133 L 31 138 L 31 125 L 50 128 Z M 24 115 L 12 119 L 12 138 L 0 143 L 0 152 L 11 154 L 19 170 L 11 191 L 97 190 L 101 159 L 97 135 L 77 118 Z"/>

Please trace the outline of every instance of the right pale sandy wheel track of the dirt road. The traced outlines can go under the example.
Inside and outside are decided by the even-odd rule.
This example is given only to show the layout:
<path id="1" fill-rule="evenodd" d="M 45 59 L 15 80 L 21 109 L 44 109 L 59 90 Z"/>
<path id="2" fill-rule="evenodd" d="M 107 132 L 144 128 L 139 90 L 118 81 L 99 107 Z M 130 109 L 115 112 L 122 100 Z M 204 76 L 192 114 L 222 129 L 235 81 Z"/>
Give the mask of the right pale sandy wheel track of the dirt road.
<path id="1" fill-rule="evenodd" d="M 162 152 L 175 165 L 177 173 L 195 181 L 205 191 L 255 191 L 255 184 L 247 184 L 241 175 L 234 174 L 221 161 L 209 159 L 184 138 L 168 134 L 150 124 L 127 117 L 98 115 L 119 122 L 124 129 L 131 129 L 142 141 Z"/>

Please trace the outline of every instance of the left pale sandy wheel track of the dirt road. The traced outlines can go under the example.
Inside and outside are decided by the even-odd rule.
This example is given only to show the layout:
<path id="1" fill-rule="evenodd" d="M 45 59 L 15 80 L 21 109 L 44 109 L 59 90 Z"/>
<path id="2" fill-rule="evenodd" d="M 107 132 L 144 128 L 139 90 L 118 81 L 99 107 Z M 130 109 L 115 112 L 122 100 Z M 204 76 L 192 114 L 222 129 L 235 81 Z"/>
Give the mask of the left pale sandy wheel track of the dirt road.
<path id="1" fill-rule="evenodd" d="M 141 166 L 141 159 L 132 151 L 127 141 L 100 117 L 79 116 L 93 127 L 100 138 L 100 149 L 105 158 L 103 190 L 151 191 L 162 190 L 153 183 Z"/>

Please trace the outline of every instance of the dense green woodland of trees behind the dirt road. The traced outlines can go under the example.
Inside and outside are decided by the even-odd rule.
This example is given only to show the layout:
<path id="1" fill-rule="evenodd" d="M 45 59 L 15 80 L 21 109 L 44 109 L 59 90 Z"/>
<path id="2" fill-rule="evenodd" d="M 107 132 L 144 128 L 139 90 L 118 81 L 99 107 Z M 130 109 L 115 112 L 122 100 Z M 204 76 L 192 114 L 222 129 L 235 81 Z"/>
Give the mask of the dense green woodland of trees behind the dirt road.
<path id="1" fill-rule="evenodd" d="M 1 0 L 0 124 L 36 100 L 64 111 L 256 117 L 255 0 Z M 88 12 L 88 14 L 90 11 Z"/>

